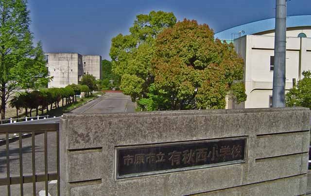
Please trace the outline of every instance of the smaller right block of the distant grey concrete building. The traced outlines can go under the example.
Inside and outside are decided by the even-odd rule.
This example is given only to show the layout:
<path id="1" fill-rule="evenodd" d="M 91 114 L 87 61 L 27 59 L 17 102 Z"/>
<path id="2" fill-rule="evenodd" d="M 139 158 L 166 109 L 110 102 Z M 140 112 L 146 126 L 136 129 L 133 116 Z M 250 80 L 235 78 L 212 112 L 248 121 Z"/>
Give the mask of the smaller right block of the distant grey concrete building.
<path id="1" fill-rule="evenodd" d="M 96 79 L 102 79 L 102 56 L 82 55 L 84 72 L 93 75 Z"/>

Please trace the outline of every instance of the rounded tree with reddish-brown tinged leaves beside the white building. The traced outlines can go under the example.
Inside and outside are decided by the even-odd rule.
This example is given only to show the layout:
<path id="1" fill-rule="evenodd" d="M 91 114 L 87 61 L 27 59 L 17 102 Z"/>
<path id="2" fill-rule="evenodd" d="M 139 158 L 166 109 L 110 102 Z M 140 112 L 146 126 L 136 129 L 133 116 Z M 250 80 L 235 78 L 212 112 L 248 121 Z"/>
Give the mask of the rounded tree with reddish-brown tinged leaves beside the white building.
<path id="1" fill-rule="evenodd" d="M 157 36 L 155 89 L 169 105 L 160 109 L 225 108 L 225 97 L 246 100 L 243 60 L 233 44 L 214 39 L 206 24 L 184 19 Z"/>

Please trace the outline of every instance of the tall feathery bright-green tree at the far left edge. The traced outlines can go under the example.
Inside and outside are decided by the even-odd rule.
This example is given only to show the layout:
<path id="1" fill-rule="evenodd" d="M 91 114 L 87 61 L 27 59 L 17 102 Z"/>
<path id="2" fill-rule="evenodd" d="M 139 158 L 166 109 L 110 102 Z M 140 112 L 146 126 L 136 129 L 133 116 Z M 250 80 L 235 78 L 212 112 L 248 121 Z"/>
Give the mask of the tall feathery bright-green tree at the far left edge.
<path id="1" fill-rule="evenodd" d="M 47 82 L 42 44 L 33 47 L 27 0 L 0 2 L 0 100 L 1 119 L 6 103 L 18 89 Z"/>

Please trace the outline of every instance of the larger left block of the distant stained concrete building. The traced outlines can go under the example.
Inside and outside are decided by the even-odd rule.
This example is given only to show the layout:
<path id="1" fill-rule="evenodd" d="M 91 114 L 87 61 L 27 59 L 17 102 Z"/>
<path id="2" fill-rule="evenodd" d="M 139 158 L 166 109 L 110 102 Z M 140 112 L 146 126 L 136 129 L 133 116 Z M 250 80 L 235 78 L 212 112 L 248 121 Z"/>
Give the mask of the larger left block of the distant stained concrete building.
<path id="1" fill-rule="evenodd" d="M 80 54 L 46 53 L 46 55 L 48 55 L 47 67 L 50 75 L 53 76 L 52 81 L 49 82 L 49 88 L 78 84 L 78 64 L 82 65 L 82 56 Z"/>

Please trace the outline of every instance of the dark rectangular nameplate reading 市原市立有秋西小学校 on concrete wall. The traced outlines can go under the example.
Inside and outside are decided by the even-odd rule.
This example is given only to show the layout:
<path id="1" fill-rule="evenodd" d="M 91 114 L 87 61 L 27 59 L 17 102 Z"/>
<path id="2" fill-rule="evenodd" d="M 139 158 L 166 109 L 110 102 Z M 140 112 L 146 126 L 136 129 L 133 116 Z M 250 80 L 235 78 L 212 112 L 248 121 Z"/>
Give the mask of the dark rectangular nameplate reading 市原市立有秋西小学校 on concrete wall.
<path id="1" fill-rule="evenodd" d="M 116 178 L 202 169 L 245 162 L 246 138 L 116 148 Z"/>

